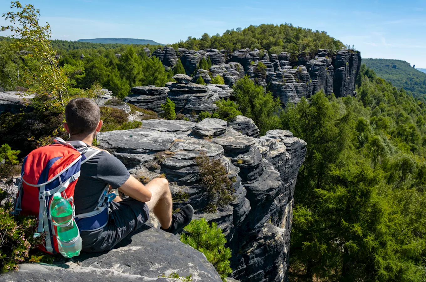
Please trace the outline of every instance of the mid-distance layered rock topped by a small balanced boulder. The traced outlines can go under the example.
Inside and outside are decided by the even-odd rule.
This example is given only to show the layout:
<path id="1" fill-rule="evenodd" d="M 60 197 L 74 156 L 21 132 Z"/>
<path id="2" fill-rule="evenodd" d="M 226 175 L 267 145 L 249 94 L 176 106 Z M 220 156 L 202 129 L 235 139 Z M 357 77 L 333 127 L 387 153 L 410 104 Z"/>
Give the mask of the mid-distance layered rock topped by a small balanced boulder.
<path id="1" fill-rule="evenodd" d="M 183 114 L 212 112 L 217 109 L 214 104 L 216 101 L 229 98 L 233 92 L 227 85 L 201 85 L 189 82 L 190 77 L 187 75 L 179 74 L 179 78 L 176 76 L 173 78 L 178 82 L 166 84 L 170 89 L 167 97 L 175 103 L 176 112 Z"/>

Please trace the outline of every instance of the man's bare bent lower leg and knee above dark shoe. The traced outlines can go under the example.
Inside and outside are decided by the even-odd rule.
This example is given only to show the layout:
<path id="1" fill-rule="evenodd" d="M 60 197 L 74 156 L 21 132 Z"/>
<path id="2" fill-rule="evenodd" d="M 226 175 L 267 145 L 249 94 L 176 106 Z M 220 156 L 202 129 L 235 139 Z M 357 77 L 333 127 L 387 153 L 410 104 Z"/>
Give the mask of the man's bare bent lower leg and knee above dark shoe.
<path id="1" fill-rule="evenodd" d="M 145 187 L 151 191 L 151 200 L 146 204 L 157 217 L 163 229 L 172 224 L 172 193 L 170 193 L 169 181 L 166 178 L 154 178 Z"/>

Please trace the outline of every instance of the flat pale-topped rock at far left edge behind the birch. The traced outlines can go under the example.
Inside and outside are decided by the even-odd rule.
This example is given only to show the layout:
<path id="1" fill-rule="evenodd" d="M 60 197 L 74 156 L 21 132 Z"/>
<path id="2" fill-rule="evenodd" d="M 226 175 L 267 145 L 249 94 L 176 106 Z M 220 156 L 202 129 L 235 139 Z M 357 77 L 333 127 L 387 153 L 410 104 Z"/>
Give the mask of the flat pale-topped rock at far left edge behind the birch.
<path id="1" fill-rule="evenodd" d="M 27 107 L 34 95 L 25 95 L 20 91 L 6 91 L 0 92 L 0 114 L 2 112 L 11 112 L 12 114 L 21 111 L 31 111 Z"/>

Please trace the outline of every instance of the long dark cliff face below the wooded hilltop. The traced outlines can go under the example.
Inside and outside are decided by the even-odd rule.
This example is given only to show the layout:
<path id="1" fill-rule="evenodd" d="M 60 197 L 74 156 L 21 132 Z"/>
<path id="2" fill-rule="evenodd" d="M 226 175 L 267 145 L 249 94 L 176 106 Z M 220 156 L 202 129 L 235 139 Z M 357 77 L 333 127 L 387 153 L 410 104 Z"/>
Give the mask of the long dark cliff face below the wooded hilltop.
<path id="1" fill-rule="evenodd" d="M 175 57 L 166 56 L 173 53 L 169 49 L 167 51 L 164 47 L 153 53 L 166 67 L 176 64 Z M 300 98 L 311 97 L 319 90 L 324 90 L 328 95 L 334 93 L 336 97 L 353 95 L 361 66 L 360 52 L 354 50 L 340 50 L 332 54 L 321 49 L 314 58 L 301 53 L 297 60 L 291 60 L 290 54 L 286 52 L 269 56 L 266 51 L 257 49 L 228 53 L 216 49 L 194 51 L 180 48 L 177 57 L 181 59 L 188 75 L 196 73 L 196 78 L 201 76 L 207 83 L 210 82 L 209 72 L 197 70 L 202 58 L 212 62 L 210 74 L 213 77 L 222 76 L 230 86 L 247 74 L 273 92 L 283 104 L 297 103 Z"/>

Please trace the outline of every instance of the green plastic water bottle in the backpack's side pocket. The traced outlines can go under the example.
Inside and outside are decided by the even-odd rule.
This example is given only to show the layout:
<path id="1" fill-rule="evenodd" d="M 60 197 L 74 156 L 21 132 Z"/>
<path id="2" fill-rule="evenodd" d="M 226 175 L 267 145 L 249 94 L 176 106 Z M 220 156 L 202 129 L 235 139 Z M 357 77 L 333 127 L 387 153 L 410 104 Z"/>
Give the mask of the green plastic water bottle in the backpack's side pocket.
<path id="1" fill-rule="evenodd" d="M 56 224 L 67 224 L 68 226 L 57 227 L 57 238 L 59 252 L 67 257 L 78 256 L 81 251 L 81 237 L 77 224 L 72 218 L 72 207 L 69 201 L 63 199 L 59 192 L 53 194 L 50 204 L 50 215 Z"/>

